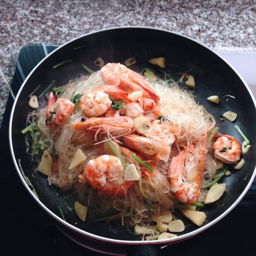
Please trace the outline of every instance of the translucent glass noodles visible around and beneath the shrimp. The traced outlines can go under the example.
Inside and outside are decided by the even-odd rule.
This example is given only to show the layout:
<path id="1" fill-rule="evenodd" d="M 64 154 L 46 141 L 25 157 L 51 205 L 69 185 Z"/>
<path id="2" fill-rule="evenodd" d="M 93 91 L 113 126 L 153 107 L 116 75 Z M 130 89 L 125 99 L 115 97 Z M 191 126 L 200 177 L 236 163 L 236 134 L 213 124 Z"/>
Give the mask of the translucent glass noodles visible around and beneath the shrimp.
<path id="1" fill-rule="evenodd" d="M 208 147 L 206 136 L 214 127 L 214 117 L 205 108 L 196 103 L 194 95 L 187 90 L 180 89 L 177 83 L 158 78 L 148 79 L 149 83 L 159 95 L 158 107 L 161 110 L 164 120 L 171 121 L 179 127 L 175 142 L 171 148 L 169 160 L 165 163 L 159 161 L 157 171 L 150 175 L 150 179 L 142 177 L 142 187 L 148 199 L 144 198 L 140 192 L 138 182 L 134 182 L 124 196 L 107 196 L 93 189 L 88 184 L 78 182 L 78 176 L 83 173 L 85 165 L 89 160 L 103 155 L 102 143 L 96 144 L 94 134 L 84 131 L 75 131 L 71 124 L 80 122 L 84 117 L 79 104 L 72 116 L 61 126 L 50 128 L 45 125 L 46 107 L 40 108 L 37 113 L 33 112 L 28 116 L 28 121 L 37 120 L 39 132 L 35 133 L 35 139 L 40 145 L 44 145 L 52 154 L 55 162 L 53 172 L 48 180 L 60 188 L 72 188 L 76 191 L 79 201 L 89 204 L 94 216 L 109 215 L 110 213 L 131 212 L 132 221 L 130 225 L 136 223 L 149 223 L 150 221 L 160 222 L 160 212 L 172 210 L 175 203 L 174 196 L 170 191 L 168 178 L 168 168 L 173 156 L 176 156 L 182 149 L 180 145 L 189 147 L 196 141 L 204 141 L 208 153 L 205 160 L 205 172 L 203 185 L 210 182 L 215 175 L 218 163 L 213 156 L 212 145 Z M 76 88 L 76 93 L 85 93 L 103 84 L 100 71 L 95 72 L 90 77 L 78 76 L 71 80 L 59 92 L 59 98 L 70 99 Z M 122 146 L 122 145 L 121 145 Z M 87 160 L 78 168 L 68 171 L 77 148 L 81 148 L 87 156 Z M 185 179 L 185 177 L 184 177 Z M 86 191 L 86 193 L 84 192 Z M 199 200 L 203 201 L 204 195 L 201 193 Z"/>

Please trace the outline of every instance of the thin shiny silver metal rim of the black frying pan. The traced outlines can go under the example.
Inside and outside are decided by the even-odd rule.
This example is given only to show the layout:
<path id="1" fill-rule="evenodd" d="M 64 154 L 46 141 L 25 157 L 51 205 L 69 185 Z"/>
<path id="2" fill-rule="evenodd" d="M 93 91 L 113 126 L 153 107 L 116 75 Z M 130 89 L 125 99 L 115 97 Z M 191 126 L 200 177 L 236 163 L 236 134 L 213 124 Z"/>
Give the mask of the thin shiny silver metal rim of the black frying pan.
<path id="1" fill-rule="evenodd" d="M 252 182 L 256 176 L 256 168 L 254 169 L 254 172 L 253 172 L 253 175 L 251 177 L 251 180 L 249 181 L 248 185 L 246 186 L 246 188 L 244 189 L 243 193 L 238 197 L 238 199 L 236 200 L 236 202 L 234 204 L 232 204 L 227 211 L 223 212 L 218 218 L 216 218 L 215 220 L 211 221 L 210 223 L 206 224 L 205 226 L 201 227 L 201 228 L 198 228 L 197 230 L 195 231 L 192 231 L 188 234 L 185 234 L 185 235 L 181 235 L 181 236 L 177 236 L 177 237 L 174 237 L 174 238 L 169 238 L 169 239 L 164 239 L 164 240 L 154 240 L 154 241 L 125 241 L 125 240 L 115 240 L 115 239 L 111 239 L 111 238 L 105 238 L 105 237 L 102 237 L 102 236 L 96 236 L 96 235 L 93 235 L 91 233 L 88 233 L 84 230 L 81 230 L 79 228 L 76 228 L 74 226 L 72 226 L 71 224 L 67 223 L 66 221 L 62 220 L 60 217 L 58 217 L 57 215 L 55 215 L 53 212 L 51 212 L 35 195 L 34 193 L 32 192 L 32 190 L 28 187 L 27 183 L 25 182 L 25 180 L 23 179 L 22 175 L 21 175 L 21 172 L 20 172 L 20 169 L 19 169 L 19 166 L 18 164 L 16 163 L 16 160 L 15 160 L 15 156 L 14 156 L 14 152 L 13 152 L 13 148 L 12 148 L 12 117 L 13 117 L 13 112 L 14 112 L 14 108 L 15 108 L 15 105 L 17 103 L 17 100 L 18 100 L 18 96 L 20 95 L 20 92 L 23 88 L 23 86 L 25 85 L 25 83 L 27 82 L 28 78 L 31 76 L 31 74 L 34 72 L 34 70 L 45 60 L 47 59 L 49 56 L 51 56 L 54 52 L 56 52 L 57 50 L 59 50 L 60 48 L 64 47 L 66 44 L 69 44 L 79 38 L 82 38 L 84 36 L 88 36 L 88 35 L 92 35 L 92 34 L 95 34 L 95 33 L 99 33 L 101 31 L 107 31 L 107 30 L 113 30 L 113 29 L 127 29 L 127 28 L 143 28 L 143 29 L 154 29 L 154 30 L 160 30 L 160 31 L 164 31 L 164 32 L 168 32 L 168 33 L 172 33 L 172 34 L 175 34 L 175 35 L 178 35 L 178 36 L 182 36 L 182 37 L 185 37 L 193 42 L 195 42 L 196 44 L 200 44 L 202 45 L 203 47 L 205 47 L 206 49 L 210 50 L 211 52 L 215 53 L 220 59 L 222 59 L 223 61 L 225 61 L 232 69 L 233 71 L 237 74 L 237 76 L 239 76 L 239 78 L 242 80 L 242 82 L 244 83 L 246 89 L 248 90 L 248 92 L 250 93 L 251 97 L 252 97 L 252 100 L 253 100 L 253 103 L 254 103 L 254 107 L 256 108 L 256 101 L 254 99 L 254 96 L 249 88 L 249 86 L 246 84 L 246 82 L 244 81 L 244 79 L 242 78 L 242 76 L 236 71 L 236 69 L 227 61 L 225 60 L 223 57 L 220 56 L 220 54 L 218 54 L 217 52 L 213 51 L 211 48 L 209 48 L 208 46 L 200 43 L 200 42 L 197 42 L 196 40 L 188 37 L 188 36 L 184 36 L 184 35 L 181 35 L 179 33 L 176 33 L 176 32 L 172 32 L 172 31 L 169 31 L 169 30 L 166 30 L 166 29 L 161 29 L 161 28 L 152 28 L 152 27 L 141 27 L 141 26 L 129 26 L 129 27 L 114 27 L 114 28 L 106 28 L 106 29 L 100 29 L 100 30 L 97 30 L 97 31 L 94 31 L 94 32 L 90 32 L 90 33 L 87 33 L 85 35 L 82 35 L 82 36 L 79 36 L 79 37 L 76 37 L 70 41 L 68 41 L 67 43 L 61 45 L 60 47 L 58 47 L 57 49 L 55 49 L 54 51 L 52 51 L 49 55 L 47 55 L 43 60 L 41 60 L 35 68 L 33 68 L 33 70 L 29 73 L 29 75 L 26 77 L 26 79 L 24 80 L 23 84 L 21 85 L 20 87 L 20 90 L 18 91 L 17 93 L 17 96 L 16 96 L 16 99 L 13 103 L 13 107 L 12 107 L 12 112 L 11 112 L 11 115 L 10 115 L 10 123 L 9 123 L 9 142 L 10 142 L 10 149 L 11 149 L 11 155 L 12 155 L 12 160 L 13 160 L 13 163 L 14 163 L 14 166 L 16 168 L 16 171 L 20 177 L 20 180 L 22 181 L 23 185 L 25 186 L 25 188 L 27 189 L 27 191 L 30 193 L 30 195 L 32 197 L 34 197 L 34 199 L 36 200 L 36 202 L 46 211 L 48 212 L 52 218 L 54 218 L 55 220 L 57 220 L 58 222 L 60 222 L 62 225 L 66 226 L 67 228 L 75 231 L 76 233 L 80 233 L 84 236 L 88 236 L 92 239 L 95 239 L 95 240 L 101 240 L 101 241 L 104 241 L 104 242 L 110 242 L 110 243 L 113 243 L 113 244 L 123 244 L 123 245 L 134 245 L 134 244 L 161 244 L 161 245 L 168 245 L 168 244 L 172 244 L 172 243 L 175 243 L 175 242 L 178 242 L 178 241 L 182 241 L 182 240 L 185 240 L 191 236 L 195 236 L 196 234 L 198 233 L 201 233 L 202 231 L 206 230 L 207 228 L 210 228 L 212 225 L 214 225 L 215 223 L 217 223 L 219 220 L 221 220 L 223 217 L 225 217 L 231 210 L 233 210 L 235 208 L 235 206 L 241 201 L 241 199 L 244 197 L 244 195 L 246 194 L 246 192 L 248 191 L 248 189 L 250 188 L 250 186 L 252 185 Z"/>

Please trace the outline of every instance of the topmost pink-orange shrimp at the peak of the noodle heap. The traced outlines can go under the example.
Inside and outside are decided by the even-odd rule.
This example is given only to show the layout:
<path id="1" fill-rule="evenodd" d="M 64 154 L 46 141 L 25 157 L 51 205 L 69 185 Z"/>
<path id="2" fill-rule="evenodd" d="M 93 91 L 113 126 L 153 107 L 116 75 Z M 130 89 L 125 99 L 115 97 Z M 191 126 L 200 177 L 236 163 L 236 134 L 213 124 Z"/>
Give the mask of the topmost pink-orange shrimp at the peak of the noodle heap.
<path id="1" fill-rule="evenodd" d="M 159 100 L 159 96 L 153 90 L 144 77 L 120 63 L 108 63 L 101 68 L 101 77 L 106 84 L 118 86 L 128 93 L 142 91 L 142 97 Z"/>

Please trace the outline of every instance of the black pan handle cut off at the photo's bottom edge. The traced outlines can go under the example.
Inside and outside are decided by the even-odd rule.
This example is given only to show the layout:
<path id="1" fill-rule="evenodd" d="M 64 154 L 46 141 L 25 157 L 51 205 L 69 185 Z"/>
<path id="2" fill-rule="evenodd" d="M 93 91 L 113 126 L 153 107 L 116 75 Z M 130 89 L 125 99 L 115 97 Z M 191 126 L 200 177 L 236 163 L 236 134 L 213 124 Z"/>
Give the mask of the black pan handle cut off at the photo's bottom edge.
<path id="1" fill-rule="evenodd" d="M 155 244 L 130 245 L 127 256 L 161 256 L 161 247 Z"/>

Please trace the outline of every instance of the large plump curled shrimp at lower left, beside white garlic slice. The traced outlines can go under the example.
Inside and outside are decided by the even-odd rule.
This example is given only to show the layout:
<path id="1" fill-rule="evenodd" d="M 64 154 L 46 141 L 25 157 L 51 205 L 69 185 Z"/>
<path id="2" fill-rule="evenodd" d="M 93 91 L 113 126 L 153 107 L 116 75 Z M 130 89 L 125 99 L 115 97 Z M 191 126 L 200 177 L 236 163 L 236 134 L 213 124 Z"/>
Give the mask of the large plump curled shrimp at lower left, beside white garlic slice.
<path id="1" fill-rule="evenodd" d="M 93 187 L 108 196 L 122 196 L 134 181 L 124 180 L 124 166 L 116 156 L 103 155 L 90 160 L 83 178 Z"/>

